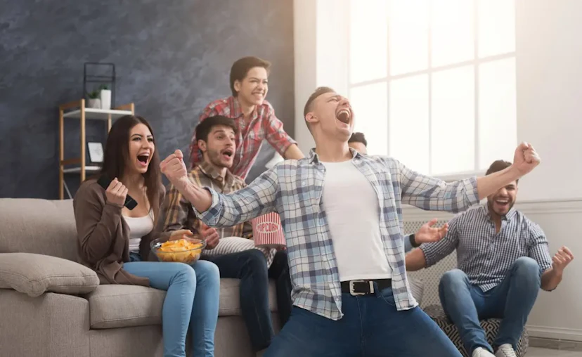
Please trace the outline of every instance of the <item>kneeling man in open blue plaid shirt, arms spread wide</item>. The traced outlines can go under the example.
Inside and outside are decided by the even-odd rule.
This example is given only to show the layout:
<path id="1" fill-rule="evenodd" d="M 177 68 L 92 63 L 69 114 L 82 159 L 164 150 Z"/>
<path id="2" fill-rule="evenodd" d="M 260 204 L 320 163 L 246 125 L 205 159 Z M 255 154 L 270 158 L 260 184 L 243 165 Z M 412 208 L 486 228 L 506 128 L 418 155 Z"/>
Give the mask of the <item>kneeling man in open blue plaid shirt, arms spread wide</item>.
<path id="1" fill-rule="evenodd" d="M 460 357 L 410 293 L 402 205 L 462 211 L 531 171 L 537 153 L 522 143 L 511 167 L 445 183 L 351 150 L 354 113 L 330 88 L 309 97 L 304 118 L 316 143 L 309 157 L 285 160 L 229 195 L 190 183 L 179 150 L 160 163 L 209 226 L 280 214 L 294 306 L 265 356 Z"/>

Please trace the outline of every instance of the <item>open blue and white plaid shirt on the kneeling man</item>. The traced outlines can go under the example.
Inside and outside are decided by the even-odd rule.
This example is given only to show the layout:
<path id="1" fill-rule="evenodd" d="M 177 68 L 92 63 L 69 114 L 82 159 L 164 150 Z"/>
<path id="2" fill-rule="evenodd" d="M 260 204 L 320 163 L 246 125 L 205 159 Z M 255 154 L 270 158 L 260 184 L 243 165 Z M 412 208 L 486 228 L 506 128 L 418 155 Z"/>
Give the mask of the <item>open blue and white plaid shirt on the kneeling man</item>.
<path id="1" fill-rule="evenodd" d="M 351 162 L 373 186 L 380 206 L 380 234 L 392 268 L 396 308 L 418 303 L 410 292 L 404 265 L 402 204 L 421 209 L 460 212 L 477 204 L 477 178 L 445 183 L 422 176 L 389 157 L 364 156 L 351 150 Z M 269 212 L 283 223 L 293 304 L 332 320 L 342 318 L 342 290 L 337 262 L 323 209 L 325 167 L 311 150 L 302 160 L 285 160 L 235 193 L 212 188 L 212 205 L 197 214 L 209 226 L 233 226 Z M 354 222 L 358 224 L 358 222 Z M 357 237 L 354 237 L 354 242 Z M 357 243 L 356 243 L 357 244 Z"/>

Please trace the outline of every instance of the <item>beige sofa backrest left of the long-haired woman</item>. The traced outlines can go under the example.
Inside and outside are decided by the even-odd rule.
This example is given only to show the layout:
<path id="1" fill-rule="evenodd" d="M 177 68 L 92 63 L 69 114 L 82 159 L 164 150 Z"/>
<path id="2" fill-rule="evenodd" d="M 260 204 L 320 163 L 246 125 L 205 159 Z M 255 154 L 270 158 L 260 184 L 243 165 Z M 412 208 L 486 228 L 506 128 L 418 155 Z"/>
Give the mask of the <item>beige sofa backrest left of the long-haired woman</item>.
<path id="1" fill-rule="evenodd" d="M 77 261 L 72 200 L 0 198 L 0 253 L 13 252 Z"/>

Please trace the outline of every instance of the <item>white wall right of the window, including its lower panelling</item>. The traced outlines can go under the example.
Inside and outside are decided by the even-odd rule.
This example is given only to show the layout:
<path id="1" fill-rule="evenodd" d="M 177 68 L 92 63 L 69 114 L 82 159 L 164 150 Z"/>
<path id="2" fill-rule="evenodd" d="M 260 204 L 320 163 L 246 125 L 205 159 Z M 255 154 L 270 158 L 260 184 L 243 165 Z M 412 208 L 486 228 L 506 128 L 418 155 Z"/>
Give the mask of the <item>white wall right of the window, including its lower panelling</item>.
<path id="1" fill-rule="evenodd" d="M 567 245 L 578 257 L 557 290 L 541 292 L 528 325 L 532 335 L 582 341 L 582 1 L 516 5 L 517 136 L 542 157 L 519 182 L 518 200 L 531 202 L 525 213 L 544 229 L 551 254 Z"/>

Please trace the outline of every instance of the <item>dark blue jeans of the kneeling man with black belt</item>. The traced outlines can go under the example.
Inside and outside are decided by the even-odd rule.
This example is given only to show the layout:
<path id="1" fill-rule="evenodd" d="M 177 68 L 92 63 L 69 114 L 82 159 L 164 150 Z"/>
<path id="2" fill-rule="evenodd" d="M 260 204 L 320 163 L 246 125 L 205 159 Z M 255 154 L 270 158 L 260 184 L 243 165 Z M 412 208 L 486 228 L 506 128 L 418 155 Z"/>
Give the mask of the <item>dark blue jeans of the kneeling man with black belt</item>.
<path id="1" fill-rule="evenodd" d="M 342 294 L 342 311 L 336 321 L 293 306 L 264 357 L 461 357 L 418 306 L 396 310 L 392 287 L 358 297 Z"/>

